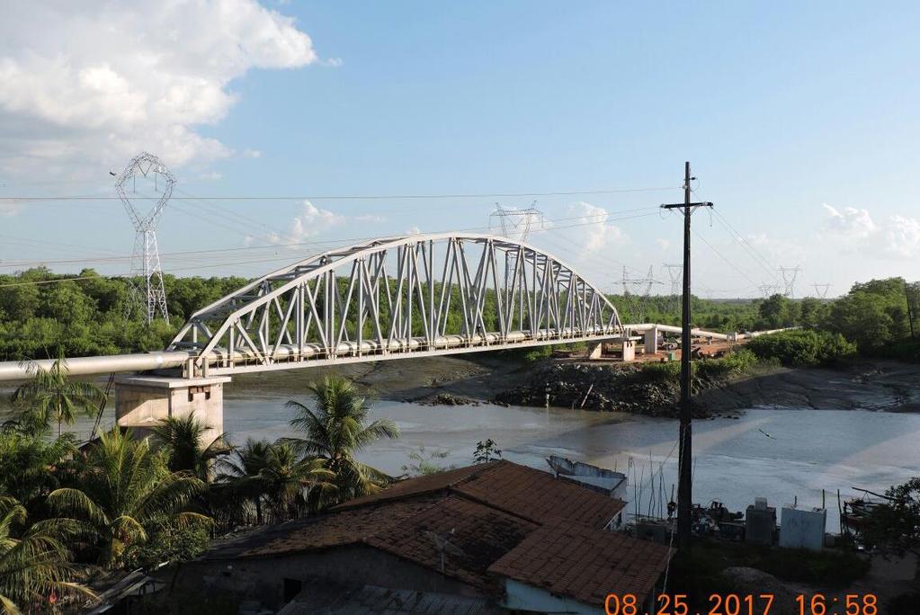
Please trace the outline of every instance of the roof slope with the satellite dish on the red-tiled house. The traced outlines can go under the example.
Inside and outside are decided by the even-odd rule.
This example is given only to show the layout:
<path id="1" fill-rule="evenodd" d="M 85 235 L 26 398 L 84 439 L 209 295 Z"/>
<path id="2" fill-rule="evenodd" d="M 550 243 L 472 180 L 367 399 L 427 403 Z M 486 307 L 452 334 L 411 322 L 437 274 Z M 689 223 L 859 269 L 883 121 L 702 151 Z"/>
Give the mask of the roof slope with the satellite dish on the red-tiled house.
<path id="1" fill-rule="evenodd" d="M 440 571 L 441 551 L 436 541 L 447 541 L 443 574 L 495 592 L 500 586 L 486 574 L 489 565 L 537 527 L 523 518 L 450 495 L 412 518 L 390 524 L 366 542 Z"/>

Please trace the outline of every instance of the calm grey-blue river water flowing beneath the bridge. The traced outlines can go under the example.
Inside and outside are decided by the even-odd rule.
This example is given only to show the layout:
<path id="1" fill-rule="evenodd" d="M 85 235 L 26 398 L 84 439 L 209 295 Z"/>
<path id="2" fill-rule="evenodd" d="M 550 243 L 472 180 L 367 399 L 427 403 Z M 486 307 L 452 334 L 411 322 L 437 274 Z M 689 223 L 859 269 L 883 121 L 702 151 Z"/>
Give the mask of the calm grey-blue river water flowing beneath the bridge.
<path id="1" fill-rule="evenodd" d="M 293 411 L 284 402 L 292 396 L 308 401 L 285 387 L 236 384 L 225 393 L 224 430 L 236 444 L 247 437 L 295 436 L 288 425 Z M 492 438 L 505 459 L 535 468 L 546 469 L 546 456 L 555 453 L 627 473 L 629 512 L 660 507 L 676 483 L 673 419 L 394 401 L 375 402 L 372 414 L 392 418 L 401 431 L 400 438 L 377 442 L 359 455 L 387 473 L 402 473 L 408 454 L 421 446 L 447 452 L 440 464 L 466 465 L 477 442 Z M 104 426 L 113 418 L 107 413 Z M 92 420 L 82 417 L 71 429 L 86 438 L 91 427 Z M 796 498 L 799 506 L 821 506 L 824 489 L 827 529 L 837 531 L 836 490 L 846 497 L 857 495 L 854 486 L 881 491 L 903 483 L 918 472 L 918 441 L 920 414 L 914 413 L 773 407 L 747 409 L 738 418 L 697 420 L 694 499 L 703 504 L 719 499 L 732 510 L 742 510 L 762 496 L 778 510 Z"/>

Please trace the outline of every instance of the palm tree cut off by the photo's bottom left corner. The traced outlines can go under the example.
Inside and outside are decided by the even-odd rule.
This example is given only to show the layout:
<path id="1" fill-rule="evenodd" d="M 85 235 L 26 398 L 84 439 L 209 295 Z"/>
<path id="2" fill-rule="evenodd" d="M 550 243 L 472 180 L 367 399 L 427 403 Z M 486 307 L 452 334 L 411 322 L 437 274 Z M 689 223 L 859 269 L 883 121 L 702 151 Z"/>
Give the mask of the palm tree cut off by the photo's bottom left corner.
<path id="1" fill-rule="evenodd" d="M 63 537 L 48 522 L 33 524 L 21 536 L 14 526 L 26 521 L 26 509 L 12 497 L 0 497 L 0 610 L 7 615 L 65 596 L 94 596 L 70 580 L 69 552 Z"/>

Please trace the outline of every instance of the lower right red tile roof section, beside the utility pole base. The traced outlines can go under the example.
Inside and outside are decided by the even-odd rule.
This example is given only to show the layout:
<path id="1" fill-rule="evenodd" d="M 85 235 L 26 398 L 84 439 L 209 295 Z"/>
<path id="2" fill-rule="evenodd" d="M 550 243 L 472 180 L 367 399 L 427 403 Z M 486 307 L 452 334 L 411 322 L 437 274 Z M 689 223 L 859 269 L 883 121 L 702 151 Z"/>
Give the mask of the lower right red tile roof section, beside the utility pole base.
<path id="1" fill-rule="evenodd" d="M 603 606 L 611 593 L 648 596 L 672 555 L 663 544 L 558 520 L 531 532 L 489 572 Z"/>

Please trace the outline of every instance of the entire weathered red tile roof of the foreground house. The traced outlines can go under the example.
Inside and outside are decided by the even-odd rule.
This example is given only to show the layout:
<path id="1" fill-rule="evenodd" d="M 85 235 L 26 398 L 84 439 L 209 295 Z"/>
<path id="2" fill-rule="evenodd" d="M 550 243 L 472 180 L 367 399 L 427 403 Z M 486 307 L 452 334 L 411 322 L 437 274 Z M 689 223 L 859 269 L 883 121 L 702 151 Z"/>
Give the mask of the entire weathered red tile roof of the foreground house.
<path id="1" fill-rule="evenodd" d="M 500 593 L 500 575 L 589 604 L 644 596 L 668 549 L 604 530 L 624 503 L 552 474 L 493 461 L 408 479 L 328 514 L 256 530 L 206 557 L 268 557 L 362 542 Z M 598 601 L 600 600 L 600 602 Z"/>

